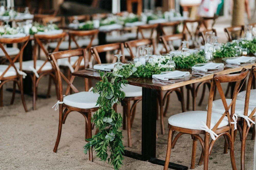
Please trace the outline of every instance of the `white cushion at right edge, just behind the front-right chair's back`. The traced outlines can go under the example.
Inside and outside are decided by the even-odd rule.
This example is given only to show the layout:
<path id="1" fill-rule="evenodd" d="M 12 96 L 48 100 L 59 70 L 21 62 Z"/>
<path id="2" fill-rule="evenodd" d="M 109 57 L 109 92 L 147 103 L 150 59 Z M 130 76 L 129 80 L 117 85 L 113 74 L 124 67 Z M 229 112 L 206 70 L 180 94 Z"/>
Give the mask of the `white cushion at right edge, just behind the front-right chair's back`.
<path id="1" fill-rule="evenodd" d="M 232 99 L 226 99 L 226 101 L 227 101 L 227 104 L 229 106 Z M 253 109 L 255 107 L 256 107 L 256 105 L 249 104 L 248 113 L 251 114 L 251 112 L 253 111 Z M 207 106 L 207 108 L 208 108 L 208 106 Z M 225 109 L 224 109 L 224 106 L 223 106 L 223 103 L 222 103 L 221 99 L 214 100 L 212 102 L 212 112 L 216 112 L 216 113 L 220 113 L 220 114 L 223 114 L 225 112 Z M 231 107 L 229 109 L 229 113 L 231 113 Z M 244 101 L 241 101 L 241 100 L 236 101 L 235 113 L 236 114 L 244 114 Z"/>

